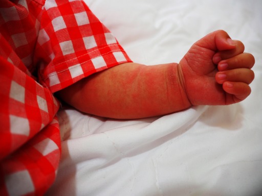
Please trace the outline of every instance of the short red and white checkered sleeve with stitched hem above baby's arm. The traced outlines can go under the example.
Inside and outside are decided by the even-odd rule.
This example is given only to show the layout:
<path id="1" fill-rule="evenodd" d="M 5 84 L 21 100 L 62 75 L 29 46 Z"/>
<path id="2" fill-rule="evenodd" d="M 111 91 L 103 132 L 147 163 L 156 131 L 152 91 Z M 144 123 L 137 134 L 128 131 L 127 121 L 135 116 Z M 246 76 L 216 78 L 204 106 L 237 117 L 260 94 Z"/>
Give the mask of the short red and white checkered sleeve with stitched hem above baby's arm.
<path id="1" fill-rule="evenodd" d="M 81 0 L 46 1 L 35 50 L 39 82 L 52 92 L 95 72 L 132 62 Z"/>

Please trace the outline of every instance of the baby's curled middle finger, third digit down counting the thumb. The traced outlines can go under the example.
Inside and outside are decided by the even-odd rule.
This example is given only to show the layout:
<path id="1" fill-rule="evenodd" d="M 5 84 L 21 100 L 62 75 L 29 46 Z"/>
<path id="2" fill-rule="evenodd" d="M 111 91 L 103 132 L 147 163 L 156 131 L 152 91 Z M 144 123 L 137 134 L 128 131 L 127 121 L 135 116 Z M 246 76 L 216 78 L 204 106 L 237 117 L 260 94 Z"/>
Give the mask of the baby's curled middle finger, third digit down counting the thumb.
<path id="1" fill-rule="evenodd" d="M 255 64 L 255 58 L 249 53 L 242 53 L 233 58 L 222 60 L 217 65 L 219 71 L 236 68 L 249 68 L 251 69 Z"/>

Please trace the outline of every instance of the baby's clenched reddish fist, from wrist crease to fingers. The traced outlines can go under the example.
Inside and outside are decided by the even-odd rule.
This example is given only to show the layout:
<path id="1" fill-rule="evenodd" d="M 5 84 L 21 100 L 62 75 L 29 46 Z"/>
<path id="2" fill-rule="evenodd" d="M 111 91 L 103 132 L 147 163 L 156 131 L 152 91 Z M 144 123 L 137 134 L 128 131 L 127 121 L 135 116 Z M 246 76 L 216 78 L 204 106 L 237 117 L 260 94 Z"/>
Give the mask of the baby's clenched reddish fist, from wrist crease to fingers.
<path id="1" fill-rule="evenodd" d="M 215 31 L 195 42 L 179 63 L 181 83 L 192 105 L 228 105 L 250 94 L 255 60 L 241 41 Z"/>

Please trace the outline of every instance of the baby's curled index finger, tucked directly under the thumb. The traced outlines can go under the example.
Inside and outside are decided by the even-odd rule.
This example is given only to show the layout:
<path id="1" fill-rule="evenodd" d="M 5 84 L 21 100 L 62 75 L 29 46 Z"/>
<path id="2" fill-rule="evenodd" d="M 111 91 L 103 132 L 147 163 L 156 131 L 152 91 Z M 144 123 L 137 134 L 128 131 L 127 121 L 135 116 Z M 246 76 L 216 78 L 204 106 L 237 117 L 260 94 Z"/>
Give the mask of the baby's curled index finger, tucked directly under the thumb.
<path id="1" fill-rule="evenodd" d="M 232 50 L 219 51 L 213 56 L 213 63 L 218 64 L 221 60 L 232 58 L 244 52 L 245 45 L 238 40 L 233 40 L 236 47 Z"/>

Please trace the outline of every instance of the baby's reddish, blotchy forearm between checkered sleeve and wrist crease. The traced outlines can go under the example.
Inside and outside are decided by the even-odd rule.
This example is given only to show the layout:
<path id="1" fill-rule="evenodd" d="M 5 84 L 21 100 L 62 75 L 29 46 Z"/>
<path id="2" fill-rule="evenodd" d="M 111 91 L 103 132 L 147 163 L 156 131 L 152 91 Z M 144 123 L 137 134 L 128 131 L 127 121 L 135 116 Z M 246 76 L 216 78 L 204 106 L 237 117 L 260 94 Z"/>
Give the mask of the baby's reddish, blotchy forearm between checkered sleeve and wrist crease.
<path id="1" fill-rule="evenodd" d="M 80 111 L 118 119 L 163 115 L 191 106 L 177 63 L 124 63 L 82 79 L 57 94 Z"/>

